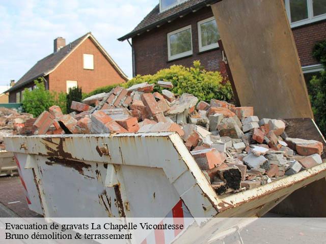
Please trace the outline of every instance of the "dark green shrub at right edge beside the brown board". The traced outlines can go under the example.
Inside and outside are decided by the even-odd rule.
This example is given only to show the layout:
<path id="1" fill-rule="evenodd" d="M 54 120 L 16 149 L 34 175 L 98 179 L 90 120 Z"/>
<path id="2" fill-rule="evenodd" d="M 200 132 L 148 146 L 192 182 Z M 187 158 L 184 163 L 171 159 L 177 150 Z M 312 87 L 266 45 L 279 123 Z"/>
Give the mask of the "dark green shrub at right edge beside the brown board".
<path id="1" fill-rule="evenodd" d="M 315 121 L 323 135 L 326 135 L 326 40 L 313 49 L 313 56 L 323 65 L 320 77 L 313 76 L 308 83 L 308 93 Z"/>

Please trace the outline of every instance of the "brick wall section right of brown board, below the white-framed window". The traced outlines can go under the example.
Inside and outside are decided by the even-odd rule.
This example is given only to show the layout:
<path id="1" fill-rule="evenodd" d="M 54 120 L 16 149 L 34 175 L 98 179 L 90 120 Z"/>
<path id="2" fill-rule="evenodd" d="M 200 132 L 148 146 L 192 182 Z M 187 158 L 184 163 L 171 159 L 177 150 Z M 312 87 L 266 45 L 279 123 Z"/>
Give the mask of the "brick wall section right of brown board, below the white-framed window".
<path id="1" fill-rule="evenodd" d="M 316 42 L 326 40 L 326 20 L 293 28 L 292 32 L 301 65 L 318 64 L 311 53 Z"/>

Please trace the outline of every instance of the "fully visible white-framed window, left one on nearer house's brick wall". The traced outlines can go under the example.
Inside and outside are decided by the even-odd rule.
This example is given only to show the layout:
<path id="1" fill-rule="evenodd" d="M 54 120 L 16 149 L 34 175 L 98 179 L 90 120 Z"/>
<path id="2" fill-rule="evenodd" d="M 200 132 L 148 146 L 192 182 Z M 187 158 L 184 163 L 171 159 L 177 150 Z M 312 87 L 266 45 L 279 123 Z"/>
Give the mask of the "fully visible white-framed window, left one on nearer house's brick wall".
<path id="1" fill-rule="evenodd" d="M 173 60 L 193 54 L 192 26 L 168 33 L 168 57 Z"/>

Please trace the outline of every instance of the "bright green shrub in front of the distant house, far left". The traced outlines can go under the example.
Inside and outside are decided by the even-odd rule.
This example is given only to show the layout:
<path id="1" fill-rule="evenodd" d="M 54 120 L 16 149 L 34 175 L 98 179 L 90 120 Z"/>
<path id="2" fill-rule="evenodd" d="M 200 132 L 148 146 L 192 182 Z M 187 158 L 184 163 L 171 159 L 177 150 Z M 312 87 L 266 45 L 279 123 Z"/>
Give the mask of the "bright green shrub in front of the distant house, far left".
<path id="1" fill-rule="evenodd" d="M 25 112 L 39 116 L 44 110 L 53 105 L 58 105 L 62 111 L 66 112 L 66 99 L 64 93 L 57 94 L 45 89 L 44 79 L 39 78 L 34 81 L 36 88 L 29 90 L 25 88 L 22 106 Z"/>

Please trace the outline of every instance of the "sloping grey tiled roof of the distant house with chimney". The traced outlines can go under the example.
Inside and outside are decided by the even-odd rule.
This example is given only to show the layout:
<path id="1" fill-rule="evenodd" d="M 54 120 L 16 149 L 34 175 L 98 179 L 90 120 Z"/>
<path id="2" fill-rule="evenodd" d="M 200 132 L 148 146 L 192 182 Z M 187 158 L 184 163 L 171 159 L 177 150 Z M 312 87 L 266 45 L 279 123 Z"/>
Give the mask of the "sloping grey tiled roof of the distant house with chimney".
<path id="1" fill-rule="evenodd" d="M 75 41 L 69 43 L 68 45 L 61 48 L 59 51 L 55 53 L 51 53 L 50 55 L 44 57 L 43 59 L 39 60 L 27 73 L 25 73 L 17 82 L 16 84 L 11 87 L 7 92 L 12 92 L 19 87 L 22 87 L 25 84 L 28 84 L 38 77 L 44 76 L 48 74 L 52 69 L 54 69 L 61 60 L 67 56 L 71 50 L 74 49 L 80 42 L 84 40 L 84 38 L 90 33 L 85 34 L 82 37 L 79 37 Z"/>

